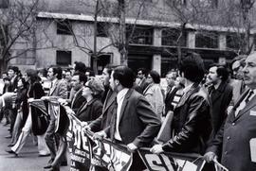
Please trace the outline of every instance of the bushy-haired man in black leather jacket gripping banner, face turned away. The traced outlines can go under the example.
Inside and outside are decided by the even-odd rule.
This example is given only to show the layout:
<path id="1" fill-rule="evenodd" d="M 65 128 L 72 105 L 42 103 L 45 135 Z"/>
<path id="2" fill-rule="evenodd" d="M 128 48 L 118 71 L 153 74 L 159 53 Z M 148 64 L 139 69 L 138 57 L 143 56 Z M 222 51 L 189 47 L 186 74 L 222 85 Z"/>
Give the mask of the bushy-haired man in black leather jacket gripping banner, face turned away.
<path id="1" fill-rule="evenodd" d="M 181 62 L 180 73 L 185 78 L 185 88 L 174 108 L 174 136 L 163 145 L 154 145 L 151 151 L 156 154 L 164 151 L 204 154 L 210 138 L 210 97 L 200 85 L 204 77 L 203 60 L 198 54 L 189 53 Z"/>

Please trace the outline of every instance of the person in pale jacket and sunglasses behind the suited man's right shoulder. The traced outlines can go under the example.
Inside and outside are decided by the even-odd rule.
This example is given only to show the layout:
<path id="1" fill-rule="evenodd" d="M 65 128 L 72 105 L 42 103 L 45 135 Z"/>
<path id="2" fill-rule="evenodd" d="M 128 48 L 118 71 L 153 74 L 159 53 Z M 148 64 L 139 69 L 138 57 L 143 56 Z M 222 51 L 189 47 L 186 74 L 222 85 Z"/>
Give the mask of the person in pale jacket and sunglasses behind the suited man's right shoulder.
<path id="1" fill-rule="evenodd" d="M 149 85 L 144 90 L 143 94 L 150 102 L 153 111 L 161 116 L 164 109 L 164 98 L 160 87 L 160 75 L 154 70 L 150 71 L 147 77 L 147 82 Z"/>

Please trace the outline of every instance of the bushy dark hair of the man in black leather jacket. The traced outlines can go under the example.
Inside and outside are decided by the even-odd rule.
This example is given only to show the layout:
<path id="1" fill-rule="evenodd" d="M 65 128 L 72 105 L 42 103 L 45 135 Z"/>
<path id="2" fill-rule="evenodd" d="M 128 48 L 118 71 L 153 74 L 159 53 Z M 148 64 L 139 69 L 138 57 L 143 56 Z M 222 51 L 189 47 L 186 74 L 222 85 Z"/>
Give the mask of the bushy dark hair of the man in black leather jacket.
<path id="1" fill-rule="evenodd" d="M 199 54 L 188 53 L 180 63 L 179 71 L 192 82 L 200 83 L 205 74 L 204 61 Z"/>

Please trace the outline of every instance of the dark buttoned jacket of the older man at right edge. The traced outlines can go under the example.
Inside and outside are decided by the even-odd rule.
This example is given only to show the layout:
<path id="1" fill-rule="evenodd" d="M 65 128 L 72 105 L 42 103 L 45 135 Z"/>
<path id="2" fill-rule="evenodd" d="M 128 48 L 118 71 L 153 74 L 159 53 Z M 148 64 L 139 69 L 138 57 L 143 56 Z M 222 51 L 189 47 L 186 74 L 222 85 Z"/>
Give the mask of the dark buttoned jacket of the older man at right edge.
<path id="1" fill-rule="evenodd" d="M 235 116 L 235 109 L 247 96 L 248 91 L 242 94 L 234 108 L 230 111 L 227 121 L 216 134 L 208 151 L 221 157 L 221 163 L 230 171 L 254 171 L 255 145 L 250 145 L 256 139 L 256 95 L 247 103 L 246 107 Z M 252 162 L 251 156 L 254 156 Z"/>

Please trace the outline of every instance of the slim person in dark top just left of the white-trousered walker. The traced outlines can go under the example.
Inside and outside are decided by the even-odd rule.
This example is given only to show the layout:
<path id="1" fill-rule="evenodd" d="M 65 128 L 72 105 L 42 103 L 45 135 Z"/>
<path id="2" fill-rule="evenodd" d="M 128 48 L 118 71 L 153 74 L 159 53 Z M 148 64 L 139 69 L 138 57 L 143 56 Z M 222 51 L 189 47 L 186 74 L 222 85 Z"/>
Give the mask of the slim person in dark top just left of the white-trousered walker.
<path id="1" fill-rule="evenodd" d="M 12 130 L 12 138 L 9 146 L 15 145 L 21 133 L 21 128 L 24 127 L 27 121 L 27 115 L 28 115 L 27 88 L 28 88 L 28 84 L 26 79 L 24 77 L 19 77 L 17 98 L 15 100 L 17 116 L 16 116 L 15 124 Z"/>

